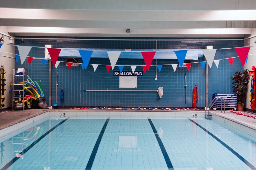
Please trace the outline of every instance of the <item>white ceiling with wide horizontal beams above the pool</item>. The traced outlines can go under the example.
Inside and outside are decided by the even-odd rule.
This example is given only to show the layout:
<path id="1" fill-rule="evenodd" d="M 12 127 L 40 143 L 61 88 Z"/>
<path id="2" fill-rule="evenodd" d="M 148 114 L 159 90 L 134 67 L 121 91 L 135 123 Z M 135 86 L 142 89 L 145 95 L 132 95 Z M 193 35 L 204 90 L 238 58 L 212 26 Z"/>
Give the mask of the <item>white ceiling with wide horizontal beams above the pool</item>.
<path id="1" fill-rule="evenodd" d="M 256 2 L 0 0 L 0 26 L 14 36 L 247 37 Z"/>

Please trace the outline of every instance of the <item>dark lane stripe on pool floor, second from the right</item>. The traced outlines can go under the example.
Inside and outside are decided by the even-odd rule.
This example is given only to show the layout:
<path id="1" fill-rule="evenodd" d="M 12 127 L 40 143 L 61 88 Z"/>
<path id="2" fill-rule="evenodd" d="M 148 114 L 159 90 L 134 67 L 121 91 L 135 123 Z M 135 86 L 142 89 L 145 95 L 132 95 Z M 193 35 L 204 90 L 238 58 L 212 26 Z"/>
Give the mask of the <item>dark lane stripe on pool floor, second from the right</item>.
<path id="1" fill-rule="evenodd" d="M 159 138 L 158 133 L 156 131 L 156 128 L 155 128 L 153 122 L 151 121 L 151 119 L 149 117 L 148 117 L 148 122 L 151 125 L 151 128 L 152 128 L 153 132 L 155 133 L 156 140 L 157 140 L 158 145 L 159 145 L 159 147 L 160 147 L 160 149 L 161 149 L 161 151 L 162 151 L 162 153 L 164 155 L 164 160 L 166 162 L 166 165 L 167 165 L 168 169 L 169 170 L 173 170 L 174 168 L 172 166 L 172 162 L 171 162 L 171 160 L 170 160 L 170 158 L 168 156 L 168 153 L 165 150 L 164 144 L 163 144 L 162 140 Z"/>

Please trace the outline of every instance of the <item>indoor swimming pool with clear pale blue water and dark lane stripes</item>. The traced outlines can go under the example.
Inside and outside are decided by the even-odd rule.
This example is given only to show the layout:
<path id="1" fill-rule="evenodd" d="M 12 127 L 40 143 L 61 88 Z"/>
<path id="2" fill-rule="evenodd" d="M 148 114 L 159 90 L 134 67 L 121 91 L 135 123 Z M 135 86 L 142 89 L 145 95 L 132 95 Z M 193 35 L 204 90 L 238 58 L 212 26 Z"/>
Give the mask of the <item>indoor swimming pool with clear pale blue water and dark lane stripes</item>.
<path id="1" fill-rule="evenodd" d="M 255 135 L 204 112 L 95 113 L 46 112 L 1 130 L 0 169 L 256 169 Z"/>

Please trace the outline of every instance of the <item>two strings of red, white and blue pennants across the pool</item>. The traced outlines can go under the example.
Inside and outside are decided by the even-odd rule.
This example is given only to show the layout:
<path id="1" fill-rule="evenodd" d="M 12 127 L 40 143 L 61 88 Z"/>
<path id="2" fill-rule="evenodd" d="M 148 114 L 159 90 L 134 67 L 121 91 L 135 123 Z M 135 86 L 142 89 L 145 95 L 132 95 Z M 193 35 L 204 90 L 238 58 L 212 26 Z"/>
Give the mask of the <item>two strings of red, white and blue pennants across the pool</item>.
<path id="1" fill-rule="evenodd" d="M 3 44 L 0 44 L 0 49 L 1 49 L 2 45 Z M 6 44 L 6 45 L 9 45 L 9 44 Z M 14 45 L 14 46 L 18 47 L 19 54 L 20 54 L 20 55 L 14 54 L 16 62 L 18 62 L 20 60 L 21 64 L 23 64 L 24 61 L 27 58 L 28 59 L 28 64 L 30 65 L 30 63 L 33 59 L 41 59 L 43 67 L 44 67 L 44 65 L 48 61 L 47 59 L 29 57 L 28 53 L 30 52 L 32 46 L 18 46 L 18 45 Z M 45 47 L 40 47 L 40 48 L 45 48 Z M 243 67 L 244 67 L 245 62 L 247 62 L 247 60 L 248 60 L 248 56 L 252 55 L 252 54 L 248 55 L 250 48 L 251 48 L 250 46 L 234 48 L 236 50 L 236 53 L 237 53 Z M 231 49 L 231 48 L 223 48 L 223 49 Z M 57 68 L 58 65 L 60 64 L 60 62 L 65 62 L 65 61 L 58 61 L 58 57 L 59 57 L 61 48 L 47 48 L 47 50 L 49 52 L 53 67 Z M 93 50 L 78 50 L 78 51 L 79 51 L 79 53 L 81 55 L 81 58 L 82 58 L 82 61 L 83 61 L 83 63 L 78 63 L 78 64 L 80 64 L 82 66 L 82 69 L 83 70 L 87 69 L 88 65 L 92 65 L 92 67 L 94 69 L 94 72 L 95 72 L 97 67 L 101 64 L 89 64 L 89 61 L 91 59 Z M 181 68 L 182 68 L 183 63 L 185 61 L 187 51 L 188 50 L 177 50 L 177 51 L 173 50 L 173 52 L 175 53 L 175 55 L 178 59 L 178 62 L 179 62 L 179 65 L 180 65 Z M 225 58 L 225 59 L 220 59 L 220 60 L 214 60 L 214 56 L 215 56 L 216 51 L 217 51 L 217 49 L 203 49 L 202 50 L 202 52 L 204 54 L 204 57 L 205 57 L 206 61 L 208 62 L 208 65 L 209 65 L 210 68 L 212 67 L 213 62 L 215 63 L 216 67 L 218 67 L 220 60 L 225 60 L 225 59 L 227 59 L 229 61 L 229 63 L 231 64 L 231 66 L 232 66 L 234 58 L 237 58 L 237 57 L 231 57 L 231 58 Z M 117 62 L 117 60 L 118 60 L 122 51 L 106 51 L 106 52 L 108 53 L 108 58 L 109 58 L 109 61 L 110 61 L 111 65 L 104 65 L 104 66 L 106 67 L 107 72 L 109 73 L 111 67 L 112 67 L 112 70 L 113 70 L 114 67 L 116 66 L 116 62 Z M 4 53 L 4 52 L 0 52 L 0 53 Z M 152 61 L 153 61 L 154 56 L 156 54 L 156 51 L 144 51 L 144 52 L 140 52 L 140 53 L 141 53 L 141 55 L 142 55 L 142 57 L 145 61 L 145 64 L 146 64 L 146 66 L 145 65 L 141 65 L 141 66 L 143 68 L 144 73 L 146 73 L 146 71 L 150 69 L 150 66 L 153 66 L 151 64 L 152 64 Z M 0 56 L 2 56 L 2 54 Z M 206 61 L 193 62 L 193 64 L 194 63 L 200 63 L 202 65 L 203 69 L 204 69 L 204 67 L 206 65 Z M 67 63 L 67 67 L 68 67 L 68 70 L 69 70 L 73 63 L 72 62 L 66 62 L 66 63 Z M 192 63 L 185 63 L 188 71 L 190 70 L 191 64 Z M 162 66 L 166 66 L 166 65 L 172 65 L 174 72 L 176 71 L 176 69 L 178 67 L 178 64 L 164 64 L 164 65 L 154 65 L 154 66 L 157 66 L 159 72 L 161 72 Z M 134 73 L 137 66 L 139 66 L 139 65 L 130 66 L 133 73 Z M 120 72 L 122 72 L 122 70 L 124 68 L 124 65 L 118 66 L 118 67 L 119 67 Z"/>

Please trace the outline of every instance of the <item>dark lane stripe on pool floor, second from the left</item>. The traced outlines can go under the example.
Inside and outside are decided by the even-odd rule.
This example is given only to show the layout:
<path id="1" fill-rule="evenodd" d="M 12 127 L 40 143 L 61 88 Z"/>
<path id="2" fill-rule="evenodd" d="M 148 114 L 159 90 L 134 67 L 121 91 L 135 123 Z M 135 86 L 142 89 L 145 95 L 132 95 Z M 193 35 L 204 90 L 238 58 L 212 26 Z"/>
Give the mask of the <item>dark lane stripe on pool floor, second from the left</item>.
<path id="1" fill-rule="evenodd" d="M 105 129 L 106 129 L 107 125 L 108 125 L 109 119 L 110 119 L 110 117 L 107 118 L 105 124 L 103 125 L 103 127 L 102 127 L 102 129 L 100 131 L 100 135 L 99 135 L 99 137 L 98 137 L 98 139 L 96 141 L 96 144 L 94 145 L 94 148 L 92 150 L 92 154 L 91 154 L 91 156 L 90 156 L 90 158 L 88 160 L 88 163 L 87 163 L 87 165 L 85 167 L 85 170 L 90 170 L 92 168 L 93 161 L 95 159 L 96 153 L 97 153 L 98 148 L 100 146 L 100 141 L 101 141 L 101 139 L 103 137 L 103 134 L 105 132 Z"/>

